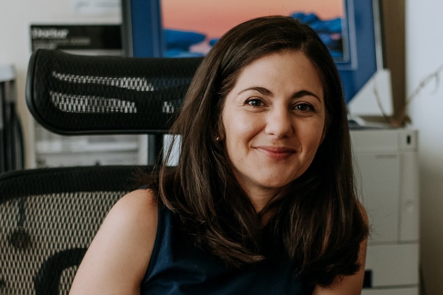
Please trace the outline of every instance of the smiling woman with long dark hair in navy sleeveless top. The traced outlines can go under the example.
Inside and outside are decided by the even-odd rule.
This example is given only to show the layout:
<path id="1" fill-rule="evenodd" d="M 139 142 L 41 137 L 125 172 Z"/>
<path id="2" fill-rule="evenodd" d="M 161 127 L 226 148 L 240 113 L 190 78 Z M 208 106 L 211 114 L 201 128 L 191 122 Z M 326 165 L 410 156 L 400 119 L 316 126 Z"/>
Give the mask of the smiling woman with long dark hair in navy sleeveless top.
<path id="1" fill-rule="evenodd" d="M 177 167 L 110 210 L 71 294 L 359 294 L 367 220 L 340 78 L 293 18 L 227 32 L 171 132 Z"/>

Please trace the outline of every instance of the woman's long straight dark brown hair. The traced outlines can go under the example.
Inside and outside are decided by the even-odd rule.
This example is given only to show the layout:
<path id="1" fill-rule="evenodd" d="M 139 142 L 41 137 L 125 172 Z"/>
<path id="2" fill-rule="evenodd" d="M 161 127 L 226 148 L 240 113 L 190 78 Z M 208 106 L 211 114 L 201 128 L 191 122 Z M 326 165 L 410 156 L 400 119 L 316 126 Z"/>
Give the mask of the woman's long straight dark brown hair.
<path id="1" fill-rule="evenodd" d="M 291 189 L 257 214 L 235 179 L 223 141 L 224 99 L 241 70 L 264 55 L 303 52 L 318 70 L 324 90 L 326 135 L 308 170 Z M 296 274 L 328 285 L 355 273 L 368 229 L 354 189 L 352 155 L 341 81 L 315 31 L 291 17 L 251 19 L 228 31 L 205 57 L 171 133 L 181 135 L 177 167 L 162 167 L 160 204 L 171 209 L 197 245 L 229 266 L 261 261 L 264 228 L 293 262 Z M 268 240 L 269 240 L 269 236 Z"/>

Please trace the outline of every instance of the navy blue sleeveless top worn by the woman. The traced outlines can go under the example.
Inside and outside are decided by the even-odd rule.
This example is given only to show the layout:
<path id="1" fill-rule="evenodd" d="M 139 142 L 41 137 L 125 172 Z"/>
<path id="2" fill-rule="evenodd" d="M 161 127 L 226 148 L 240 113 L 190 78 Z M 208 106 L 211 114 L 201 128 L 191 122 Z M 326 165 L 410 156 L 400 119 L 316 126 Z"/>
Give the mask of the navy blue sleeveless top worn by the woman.
<path id="1" fill-rule="evenodd" d="M 293 279 L 288 260 L 265 259 L 229 269 L 213 255 L 183 240 L 170 210 L 158 208 L 157 235 L 141 284 L 143 295 L 307 295 L 312 287 Z"/>

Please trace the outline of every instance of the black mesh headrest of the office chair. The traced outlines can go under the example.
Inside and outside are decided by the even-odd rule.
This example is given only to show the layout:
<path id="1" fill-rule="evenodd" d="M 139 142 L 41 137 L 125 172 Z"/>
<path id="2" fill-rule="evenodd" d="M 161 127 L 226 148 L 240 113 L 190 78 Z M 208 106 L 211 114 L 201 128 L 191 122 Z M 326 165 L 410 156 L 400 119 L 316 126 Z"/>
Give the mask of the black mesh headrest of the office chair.
<path id="1" fill-rule="evenodd" d="M 26 99 L 35 119 L 56 133 L 162 133 L 201 60 L 38 49 L 29 62 Z"/>

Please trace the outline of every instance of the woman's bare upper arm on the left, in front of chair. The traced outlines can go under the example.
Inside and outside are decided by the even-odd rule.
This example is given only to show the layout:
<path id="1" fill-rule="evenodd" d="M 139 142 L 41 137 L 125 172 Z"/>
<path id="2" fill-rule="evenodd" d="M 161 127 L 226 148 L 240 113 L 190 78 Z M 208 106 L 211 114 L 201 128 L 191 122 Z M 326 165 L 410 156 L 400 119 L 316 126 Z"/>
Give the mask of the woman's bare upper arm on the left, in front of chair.
<path id="1" fill-rule="evenodd" d="M 89 246 L 69 294 L 140 294 L 154 248 L 157 215 L 151 190 L 123 196 Z"/>

